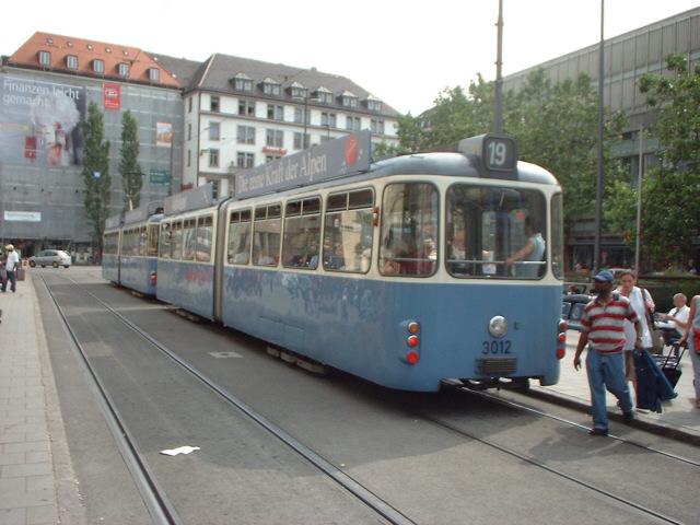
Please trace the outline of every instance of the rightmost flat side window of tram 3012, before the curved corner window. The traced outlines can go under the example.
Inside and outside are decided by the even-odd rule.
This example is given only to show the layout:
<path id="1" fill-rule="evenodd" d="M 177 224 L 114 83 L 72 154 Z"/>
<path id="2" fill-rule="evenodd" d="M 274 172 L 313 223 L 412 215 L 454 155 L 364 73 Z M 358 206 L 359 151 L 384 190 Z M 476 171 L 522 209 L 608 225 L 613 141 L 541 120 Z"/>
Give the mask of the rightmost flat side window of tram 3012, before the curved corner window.
<path id="1" fill-rule="evenodd" d="M 324 229 L 324 269 L 365 273 L 372 260 L 374 234 L 372 189 L 328 196 Z"/>

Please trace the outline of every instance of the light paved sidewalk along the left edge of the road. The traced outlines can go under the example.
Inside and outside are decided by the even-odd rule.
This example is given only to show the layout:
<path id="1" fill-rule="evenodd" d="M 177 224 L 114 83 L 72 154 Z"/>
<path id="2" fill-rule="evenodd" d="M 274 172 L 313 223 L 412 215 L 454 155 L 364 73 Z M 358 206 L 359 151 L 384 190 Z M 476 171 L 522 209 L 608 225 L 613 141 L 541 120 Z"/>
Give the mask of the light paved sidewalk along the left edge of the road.
<path id="1" fill-rule="evenodd" d="M 0 523 L 58 523 L 70 462 L 32 278 L 0 293 Z M 70 475 L 70 472 L 69 472 Z"/>

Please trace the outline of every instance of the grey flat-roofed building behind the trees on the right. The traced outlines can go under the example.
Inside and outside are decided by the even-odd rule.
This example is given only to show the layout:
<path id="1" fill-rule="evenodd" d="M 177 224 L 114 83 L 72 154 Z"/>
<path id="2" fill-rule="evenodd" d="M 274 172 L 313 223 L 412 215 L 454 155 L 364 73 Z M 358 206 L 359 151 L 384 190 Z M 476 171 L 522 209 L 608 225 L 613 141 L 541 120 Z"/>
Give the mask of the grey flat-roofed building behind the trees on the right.
<path id="1" fill-rule="evenodd" d="M 625 112 L 628 129 L 614 152 L 623 159 L 629 168 L 630 183 L 637 184 L 642 159 L 642 172 L 657 162 L 658 141 L 655 138 L 640 140 L 640 129 L 650 128 L 657 113 L 646 105 L 646 96 L 639 91 L 639 80 L 645 73 L 668 74 L 665 59 L 670 54 L 688 57 L 691 67 L 700 63 L 700 8 L 679 13 L 653 24 L 625 33 L 604 43 L 604 102 L 611 110 Z M 553 83 L 575 80 L 585 73 L 598 84 L 599 45 L 563 55 L 503 79 L 503 90 L 517 92 L 525 85 L 527 75 L 542 69 Z M 568 240 L 568 261 L 591 267 L 593 260 L 593 218 L 582 218 Z M 633 266 L 633 250 L 616 235 L 604 236 L 602 260 L 607 266 Z"/>

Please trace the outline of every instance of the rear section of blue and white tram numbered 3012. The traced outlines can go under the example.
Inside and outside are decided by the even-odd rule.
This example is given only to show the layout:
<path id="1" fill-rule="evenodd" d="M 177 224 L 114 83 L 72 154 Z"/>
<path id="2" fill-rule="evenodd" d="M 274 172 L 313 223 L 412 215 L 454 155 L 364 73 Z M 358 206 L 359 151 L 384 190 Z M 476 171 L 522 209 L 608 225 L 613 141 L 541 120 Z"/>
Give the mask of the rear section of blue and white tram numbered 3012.
<path id="1" fill-rule="evenodd" d="M 213 318 L 393 388 L 555 384 L 564 353 L 561 188 L 503 142 L 490 152 L 478 143 L 230 200 L 218 224 L 206 210 L 219 229 L 218 269 L 190 259 L 189 271 L 213 282 Z M 173 221 L 173 238 L 185 220 Z M 197 312 L 211 299 L 202 292 L 194 304 L 192 279 L 173 278 L 183 290 L 166 300 Z"/>

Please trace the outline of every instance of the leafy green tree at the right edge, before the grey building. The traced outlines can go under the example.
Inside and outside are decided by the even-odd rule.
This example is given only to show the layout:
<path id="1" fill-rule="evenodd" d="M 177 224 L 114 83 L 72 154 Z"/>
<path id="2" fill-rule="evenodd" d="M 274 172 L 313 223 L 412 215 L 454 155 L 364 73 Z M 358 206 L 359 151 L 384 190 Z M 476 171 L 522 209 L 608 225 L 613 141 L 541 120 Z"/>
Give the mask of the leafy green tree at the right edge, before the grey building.
<path id="1" fill-rule="evenodd" d="M 691 71 L 687 58 L 670 55 L 666 68 L 672 75 L 645 74 L 640 91 L 658 110 L 652 131 L 661 150 L 657 166 L 642 183 L 642 232 L 645 258 L 678 262 L 690 258 L 692 240 L 700 234 L 700 68 Z M 619 185 L 621 198 L 607 212 L 621 231 L 635 233 L 629 202 L 637 202 L 637 189 Z"/>

